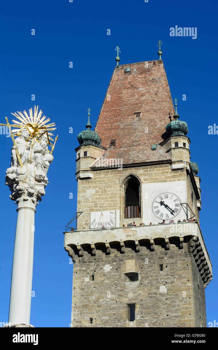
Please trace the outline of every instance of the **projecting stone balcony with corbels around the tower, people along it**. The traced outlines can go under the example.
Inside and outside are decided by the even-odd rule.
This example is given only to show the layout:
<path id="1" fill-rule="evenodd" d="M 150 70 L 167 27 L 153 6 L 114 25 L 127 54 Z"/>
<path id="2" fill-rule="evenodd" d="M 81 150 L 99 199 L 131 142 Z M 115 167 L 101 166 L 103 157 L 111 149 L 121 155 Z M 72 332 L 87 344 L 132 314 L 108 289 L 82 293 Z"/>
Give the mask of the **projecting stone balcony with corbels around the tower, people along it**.
<path id="1" fill-rule="evenodd" d="M 135 251 L 140 252 L 140 242 L 148 243 L 150 251 L 155 250 L 155 244 L 161 244 L 165 250 L 174 244 L 182 249 L 188 243 L 189 253 L 193 253 L 204 286 L 212 280 L 212 265 L 206 250 L 202 232 L 198 222 L 184 222 L 174 224 L 157 224 L 133 226 L 111 229 L 92 229 L 84 231 L 70 231 L 64 233 L 64 249 L 73 261 L 83 256 L 89 247 L 91 255 L 96 255 L 99 246 L 105 247 L 106 254 L 110 254 L 110 244 L 117 244 L 120 253 L 125 253 L 125 242 L 133 243 Z"/>

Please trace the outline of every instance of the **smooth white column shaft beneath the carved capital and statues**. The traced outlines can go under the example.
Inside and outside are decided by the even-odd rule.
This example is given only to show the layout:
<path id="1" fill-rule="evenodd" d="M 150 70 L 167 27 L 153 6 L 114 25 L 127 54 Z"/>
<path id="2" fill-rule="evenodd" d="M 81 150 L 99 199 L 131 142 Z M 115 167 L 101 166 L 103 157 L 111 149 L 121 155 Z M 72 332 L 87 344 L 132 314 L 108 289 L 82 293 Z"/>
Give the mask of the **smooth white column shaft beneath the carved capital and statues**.
<path id="1" fill-rule="evenodd" d="M 9 324 L 29 325 L 30 322 L 35 212 L 30 207 L 17 208 Z"/>

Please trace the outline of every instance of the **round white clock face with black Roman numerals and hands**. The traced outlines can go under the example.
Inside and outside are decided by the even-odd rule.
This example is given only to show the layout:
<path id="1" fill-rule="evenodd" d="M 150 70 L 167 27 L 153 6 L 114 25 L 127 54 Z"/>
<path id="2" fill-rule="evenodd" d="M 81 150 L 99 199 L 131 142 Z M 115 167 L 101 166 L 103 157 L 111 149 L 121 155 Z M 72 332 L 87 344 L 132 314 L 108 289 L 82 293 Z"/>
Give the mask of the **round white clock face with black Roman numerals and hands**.
<path id="1" fill-rule="evenodd" d="M 181 210 L 180 198 L 174 193 L 162 193 L 155 198 L 152 210 L 160 219 L 173 219 Z"/>

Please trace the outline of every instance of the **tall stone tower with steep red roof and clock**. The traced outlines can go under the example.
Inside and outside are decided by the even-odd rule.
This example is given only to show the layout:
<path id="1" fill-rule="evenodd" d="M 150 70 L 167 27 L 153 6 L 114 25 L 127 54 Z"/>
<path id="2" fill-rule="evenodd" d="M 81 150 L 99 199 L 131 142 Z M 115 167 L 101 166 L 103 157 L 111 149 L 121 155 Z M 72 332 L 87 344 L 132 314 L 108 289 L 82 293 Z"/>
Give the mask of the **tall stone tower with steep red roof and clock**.
<path id="1" fill-rule="evenodd" d="M 94 131 L 88 119 L 77 137 L 72 327 L 206 327 L 212 269 L 187 133 L 161 59 L 115 67 Z"/>

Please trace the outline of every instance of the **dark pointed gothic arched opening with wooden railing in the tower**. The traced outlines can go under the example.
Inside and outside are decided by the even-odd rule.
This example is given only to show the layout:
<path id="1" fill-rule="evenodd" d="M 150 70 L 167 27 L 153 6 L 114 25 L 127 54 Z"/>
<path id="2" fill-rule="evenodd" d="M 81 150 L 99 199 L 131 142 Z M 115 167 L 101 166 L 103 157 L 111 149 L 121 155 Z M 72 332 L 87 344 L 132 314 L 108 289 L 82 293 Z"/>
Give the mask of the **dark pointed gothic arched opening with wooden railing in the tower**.
<path id="1" fill-rule="evenodd" d="M 131 175 L 124 186 L 125 190 L 125 219 L 140 217 L 140 182 Z"/>

